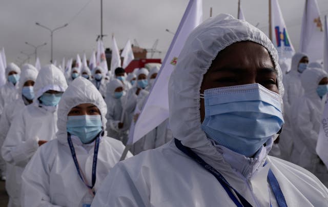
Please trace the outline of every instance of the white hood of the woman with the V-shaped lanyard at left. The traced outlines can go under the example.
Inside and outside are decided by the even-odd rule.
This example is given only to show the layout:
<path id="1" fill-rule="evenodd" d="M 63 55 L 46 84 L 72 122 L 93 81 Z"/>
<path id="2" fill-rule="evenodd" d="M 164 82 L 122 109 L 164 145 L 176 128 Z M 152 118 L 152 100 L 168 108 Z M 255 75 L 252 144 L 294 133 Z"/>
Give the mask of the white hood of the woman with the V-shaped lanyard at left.
<path id="1" fill-rule="evenodd" d="M 75 78 L 67 88 L 58 103 L 58 120 L 57 120 L 57 139 L 61 143 L 67 143 L 67 115 L 69 111 L 81 103 L 92 103 L 95 105 L 101 114 L 103 121 L 103 130 L 106 136 L 106 113 L 107 106 L 103 96 L 99 93 L 96 87 L 84 77 Z"/>

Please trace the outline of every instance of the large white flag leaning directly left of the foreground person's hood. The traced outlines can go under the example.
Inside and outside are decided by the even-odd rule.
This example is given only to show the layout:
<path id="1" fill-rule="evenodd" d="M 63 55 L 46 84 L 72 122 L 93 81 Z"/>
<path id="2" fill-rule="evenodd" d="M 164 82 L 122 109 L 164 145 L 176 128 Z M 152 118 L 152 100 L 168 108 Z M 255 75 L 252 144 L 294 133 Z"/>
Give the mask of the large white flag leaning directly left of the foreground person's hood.
<path id="1" fill-rule="evenodd" d="M 135 143 L 169 117 L 168 84 L 170 75 L 177 61 L 179 61 L 177 57 L 187 37 L 201 22 L 202 0 L 190 0 L 173 37 L 170 48 L 163 60 L 160 72 L 157 75 L 147 102 L 135 123 L 133 140 L 130 139 L 129 143 Z"/>

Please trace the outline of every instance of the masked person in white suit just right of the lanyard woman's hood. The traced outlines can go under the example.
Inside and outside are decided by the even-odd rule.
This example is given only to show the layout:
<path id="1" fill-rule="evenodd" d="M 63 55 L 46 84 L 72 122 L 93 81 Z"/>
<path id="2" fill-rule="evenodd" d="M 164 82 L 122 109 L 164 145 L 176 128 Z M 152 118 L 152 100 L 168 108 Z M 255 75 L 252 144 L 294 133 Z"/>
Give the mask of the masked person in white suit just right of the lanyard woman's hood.
<path id="1" fill-rule="evenodd" d="M 125 107 L 127 106 L 127 96 L 124 85 L 118 78 L 113 79 L 107 85 L 107 95 L 105 102 L 107 105 L 107 132 L 109 137 L 127 143 L 129 123 Z"/>

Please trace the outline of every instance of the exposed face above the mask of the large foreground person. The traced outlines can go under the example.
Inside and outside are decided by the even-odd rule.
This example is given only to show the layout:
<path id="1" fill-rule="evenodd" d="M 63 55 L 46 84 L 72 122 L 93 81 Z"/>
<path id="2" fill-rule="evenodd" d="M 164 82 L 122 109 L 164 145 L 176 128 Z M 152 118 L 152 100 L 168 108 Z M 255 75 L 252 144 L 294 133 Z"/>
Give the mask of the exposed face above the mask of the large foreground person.
<path id="1" fill-rule="evenodd" d="M 223 49 L 203 77 L 204 90 L 245 84 L 260 84 L 279 93 L 277 73 L 267 49 L 253 42 L 238 42 Z M 204 120 L 204 99 L 200 99 L 200 119 Z"/>

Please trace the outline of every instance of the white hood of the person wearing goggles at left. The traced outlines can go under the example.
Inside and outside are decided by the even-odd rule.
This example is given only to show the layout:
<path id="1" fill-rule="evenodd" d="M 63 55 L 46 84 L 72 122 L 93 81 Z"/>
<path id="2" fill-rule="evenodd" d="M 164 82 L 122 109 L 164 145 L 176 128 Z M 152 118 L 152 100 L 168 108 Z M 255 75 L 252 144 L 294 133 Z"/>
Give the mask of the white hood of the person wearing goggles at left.
<path id="1" fill-rule="evenodd" d="M 34 103 L 48 90 L 64 92 L 67 89 L 67 82 L 63 72 L 54 65 L 47 65 L 41 68 L 34 84 Z"/>

